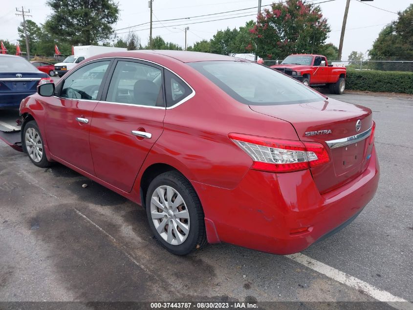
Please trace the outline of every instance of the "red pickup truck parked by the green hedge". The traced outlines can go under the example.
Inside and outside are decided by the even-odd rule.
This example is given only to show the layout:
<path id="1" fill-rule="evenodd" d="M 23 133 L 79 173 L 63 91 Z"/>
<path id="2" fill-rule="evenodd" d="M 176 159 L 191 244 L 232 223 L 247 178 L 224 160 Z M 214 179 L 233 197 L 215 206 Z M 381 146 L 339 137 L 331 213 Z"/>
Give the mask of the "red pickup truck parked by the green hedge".
<path id="1" fill-rule="evenodd" d="M 326 56 L 292 54 L 280 65 L 271 66 L 298 79 L 305 85 L 328 85 L 330 93 L 343 94 L 346 87 L 346 67 L 328 65 Z"/>

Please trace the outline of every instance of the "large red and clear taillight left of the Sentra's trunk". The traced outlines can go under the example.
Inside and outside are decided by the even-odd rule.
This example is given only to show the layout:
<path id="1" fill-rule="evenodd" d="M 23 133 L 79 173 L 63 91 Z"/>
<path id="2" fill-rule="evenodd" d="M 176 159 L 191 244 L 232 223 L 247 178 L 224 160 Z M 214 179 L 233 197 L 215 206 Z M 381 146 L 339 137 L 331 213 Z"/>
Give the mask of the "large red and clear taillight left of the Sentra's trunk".
<path id="1" fill-rule="evenodd" d="M 231 133 L 229 138 L 253 160 L 252 169 L 291 172 L 328 163 L 326 149 L 320 143 L 279 140 Z"/>

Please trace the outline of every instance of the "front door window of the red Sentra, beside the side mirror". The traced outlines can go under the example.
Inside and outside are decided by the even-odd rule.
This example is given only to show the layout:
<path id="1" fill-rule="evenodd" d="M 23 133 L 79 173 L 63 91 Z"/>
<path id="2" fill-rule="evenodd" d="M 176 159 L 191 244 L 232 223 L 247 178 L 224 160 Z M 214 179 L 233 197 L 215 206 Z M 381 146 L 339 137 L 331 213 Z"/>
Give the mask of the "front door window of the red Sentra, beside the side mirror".
<path id="1" fill-rule="evenodd" d="M 60 96 L 72 99 L 96 100 L 110 60 L 83 66 L 63 81 Z"/>

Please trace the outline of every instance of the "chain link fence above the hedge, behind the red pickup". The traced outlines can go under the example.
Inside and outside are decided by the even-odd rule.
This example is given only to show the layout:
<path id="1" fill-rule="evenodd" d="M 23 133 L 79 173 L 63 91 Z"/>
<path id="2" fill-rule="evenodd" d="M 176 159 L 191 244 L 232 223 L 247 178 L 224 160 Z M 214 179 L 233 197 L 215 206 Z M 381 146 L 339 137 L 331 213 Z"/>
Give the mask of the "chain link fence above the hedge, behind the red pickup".
<path id="1" fill-rule="evenodd" d="M 263 59 L 266 66 L 280 65 L 285 57 L 276 59 Z M 413 60 L 357 60 L 341 61 L 338 59 L 328 59 L 328 64 L 334 67 L 346 67 L 355 70 L 376 70 L 376 71 L 404 71 L 413 72 Z"/>

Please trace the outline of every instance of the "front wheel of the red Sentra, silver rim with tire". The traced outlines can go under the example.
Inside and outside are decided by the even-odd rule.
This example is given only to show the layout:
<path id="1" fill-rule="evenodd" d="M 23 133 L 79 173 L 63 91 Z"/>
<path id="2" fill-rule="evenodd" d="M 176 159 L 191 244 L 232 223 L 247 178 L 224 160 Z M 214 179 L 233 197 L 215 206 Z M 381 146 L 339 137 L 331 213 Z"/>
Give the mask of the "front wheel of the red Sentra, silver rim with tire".
<path id="1" fill-rule="evenodd" d="M 24 148 L 31 162 L 37 167 L 49 167 L 51 163 L 44 153 L 43 139 L 36 121 L 30 120 L 26 123 L 23 138 Z"/>

